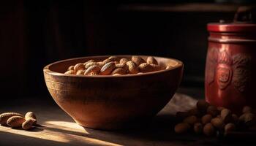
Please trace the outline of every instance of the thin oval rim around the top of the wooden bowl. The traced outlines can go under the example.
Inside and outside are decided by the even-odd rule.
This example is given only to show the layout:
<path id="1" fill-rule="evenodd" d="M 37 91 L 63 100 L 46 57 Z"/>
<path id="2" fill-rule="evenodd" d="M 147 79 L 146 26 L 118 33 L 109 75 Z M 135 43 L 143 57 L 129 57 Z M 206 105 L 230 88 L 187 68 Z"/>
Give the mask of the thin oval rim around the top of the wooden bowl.
<path id="1" fill-rule="evenodd" d="M 46 74 L 50 74 L 50 75 L 54 75 L 54 76 L 67 76 L 67 77 L 135 77 L 135 76 L 137 77 L 137 76 L 144 76 L 144 75 L 148 75 L 148 74 L 160 74 L 162 72 L 169 72 L 170 70 L 177 69 L 179 67 L 184 66 L 182 61 L 179 61 L 178 59 L 175 59 L 175 58 L 165 58 L 165 57 L 152 56 L 152 55 L 138 55 L 138 56 L 144 57 L 144 58 L 147 58 L 148 56 L 152 56 L 152 57 L 156 58 L 157 60 L 158 60 L 158 58 L 167 59 L 167 60 L 170 60 L 170 61 L 175 61 L 177 64 L 175 66 L 173 66 L 173 68 L 170 68 L 170 69 L 162 69 L 162 70 L 159 70 L 159 71 L 146 72 L 146 73 L 143 73 L 143 74 L 124 74 L 124 75 L 118 75 L 118 76 L 113 76 L 113 75 L 89 76 L 89 75 L 77 75 L 77 74 L 64 74 L 64 73 L 61 73 L 61 72 L 54 72 L 54 71 L 49 69 L 50 66 L 53 66 L 53 65 L 59 64 L 59 63 L 63 63 L 63 62 L 66 62 L 66 61 L 79 60 L 79 59 L 88 59 L 88 60 L 90 60 L 90 59 L 94 59 L 94 58 L 108 58 L 109 56 L 111 56 L 111 55 L 94 55 L 94 56 L 64 59 L 64 60 L 61 60 L 61 61 L 56 61 L 56 62 L 53 62 L 51 64 L 48 64 L 47 66 L 44 67 L 43 71 Z M 115 56 L 124 57 L 124 58 L 132 57 L 132 55 L 115 55 Z"/>

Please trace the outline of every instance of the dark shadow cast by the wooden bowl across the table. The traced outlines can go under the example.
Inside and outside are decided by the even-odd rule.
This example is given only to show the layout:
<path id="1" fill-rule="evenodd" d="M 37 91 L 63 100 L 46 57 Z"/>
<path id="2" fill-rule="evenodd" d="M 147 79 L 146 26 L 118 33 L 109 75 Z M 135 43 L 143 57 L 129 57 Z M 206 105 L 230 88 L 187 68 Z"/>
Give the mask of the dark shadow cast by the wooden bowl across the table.
<path id="1" fill-rule="evenodd" d="M 147 126 L 126 131 L 99 131 L 85 128 L 93 137 L 105 141 L 115 142 L 119 145 L 182 145 L 183 143 L 195 142 L 197 137 L 177 135 L 173 132 L 176 119 L 172 115 L 158 115 Z"/>

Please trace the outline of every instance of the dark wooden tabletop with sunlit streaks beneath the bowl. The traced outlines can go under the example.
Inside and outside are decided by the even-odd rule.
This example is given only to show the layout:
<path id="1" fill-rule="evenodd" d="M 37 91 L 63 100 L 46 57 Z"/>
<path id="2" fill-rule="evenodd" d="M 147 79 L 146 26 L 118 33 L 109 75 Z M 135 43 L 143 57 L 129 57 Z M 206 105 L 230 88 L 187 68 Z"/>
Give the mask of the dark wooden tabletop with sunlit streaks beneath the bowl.
<path id="1" fill-rule="evenodd" d="M 182 90 L 180 90 L 182 91 Z M 192 92 L 191 92 L 192 93 Z M 187 110 L 196 99 L 176 93 L 147 128 L 128 131 L 99 131 L 83 128 L 62 111 L 50 97 L 14 100 L 0 112 L 33 111 L 41 126 L 30 131 L 0 126 L 0 145 L 228 145 L 217 138 L 195 134 L 175 134 L 176 111 Z"/>

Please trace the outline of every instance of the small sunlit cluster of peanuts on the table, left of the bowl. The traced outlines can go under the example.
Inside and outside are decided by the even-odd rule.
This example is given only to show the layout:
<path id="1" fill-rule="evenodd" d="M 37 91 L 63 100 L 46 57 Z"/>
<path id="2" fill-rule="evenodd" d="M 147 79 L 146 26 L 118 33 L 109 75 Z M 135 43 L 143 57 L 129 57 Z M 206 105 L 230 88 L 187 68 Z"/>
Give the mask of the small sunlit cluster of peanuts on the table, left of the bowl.
<path id="1" fill-rule="evenodd" d="M 34 112 L 26 112 L 25 116 L 17 112 L 4 112 L 0 115 L 0 124 L 1 126 L 22 127 L 24 130 L 29 130 L 37 124 L 37 117 Z"/>

